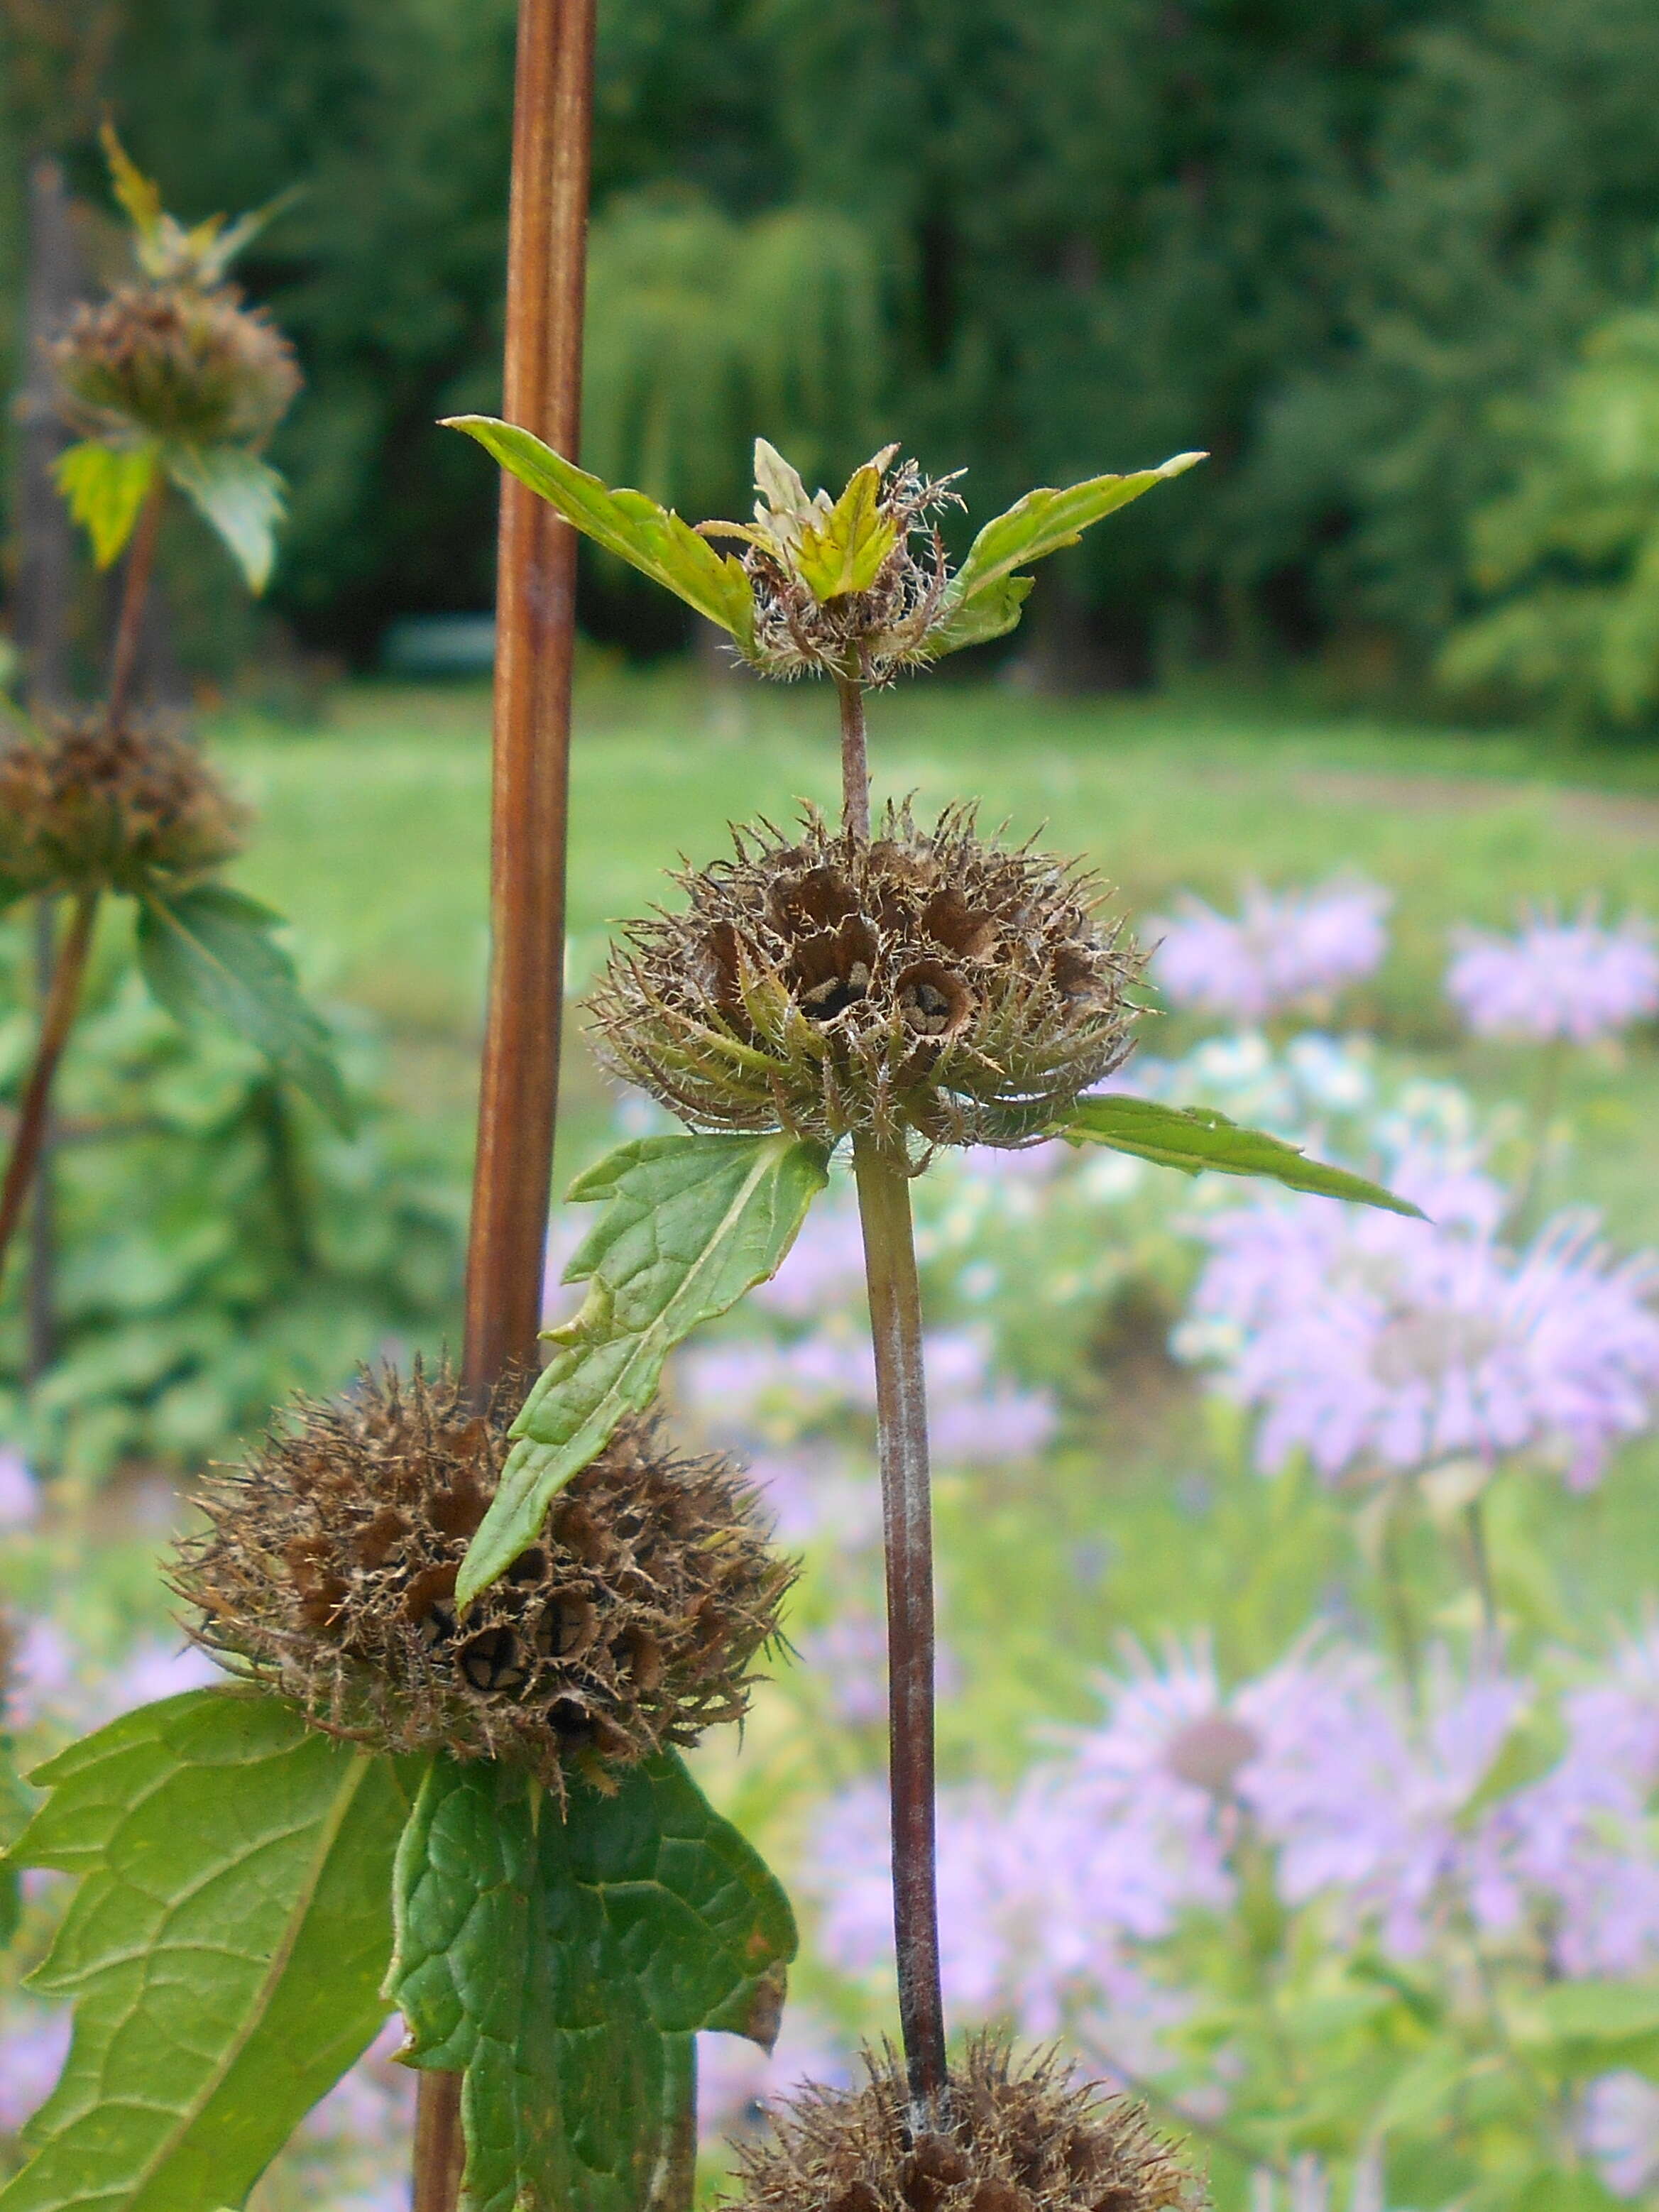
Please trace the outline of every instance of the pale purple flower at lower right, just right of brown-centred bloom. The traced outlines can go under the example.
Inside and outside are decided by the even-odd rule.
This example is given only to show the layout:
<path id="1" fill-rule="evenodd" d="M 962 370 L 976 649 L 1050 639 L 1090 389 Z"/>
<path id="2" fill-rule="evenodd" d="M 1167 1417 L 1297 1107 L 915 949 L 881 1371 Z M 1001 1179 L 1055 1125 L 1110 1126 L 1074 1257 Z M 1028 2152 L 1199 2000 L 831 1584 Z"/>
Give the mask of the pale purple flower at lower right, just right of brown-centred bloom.
<path id="1" fill-rule="evenodd" d="M 1464 1807 L 1526 1703 L 1502 1677 L 1458 1681 L 1427 1670 L 1411 1717 L 1369 1652 L 1292 1655 L 1237 1701 L 1261 1734 L 1239 1796 L 1279 1847 L 1290 1905 L 1327 1898 L 1349 1933 L 1418 1955 L 1462 1911 L 1491 1927 L 1513 1916 L 1491 1823 Z"/>

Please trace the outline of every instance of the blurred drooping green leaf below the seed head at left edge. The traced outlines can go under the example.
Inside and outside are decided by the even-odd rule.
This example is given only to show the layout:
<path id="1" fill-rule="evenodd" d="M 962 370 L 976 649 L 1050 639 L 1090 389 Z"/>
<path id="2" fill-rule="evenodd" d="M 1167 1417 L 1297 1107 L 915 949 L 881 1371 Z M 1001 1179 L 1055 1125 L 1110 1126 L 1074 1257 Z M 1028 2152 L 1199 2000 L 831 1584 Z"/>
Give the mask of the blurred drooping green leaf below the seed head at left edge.
<path id="1" fill-rule="evenodd" d="M 148 891 L 139 900 L 144 980 L 179 1022 L 212 1013 L 352 1133 L 352 1106 L 330 1033 L 299 993 L 294 962 L 272 936 L 281 916 L 223 883 Z"/>

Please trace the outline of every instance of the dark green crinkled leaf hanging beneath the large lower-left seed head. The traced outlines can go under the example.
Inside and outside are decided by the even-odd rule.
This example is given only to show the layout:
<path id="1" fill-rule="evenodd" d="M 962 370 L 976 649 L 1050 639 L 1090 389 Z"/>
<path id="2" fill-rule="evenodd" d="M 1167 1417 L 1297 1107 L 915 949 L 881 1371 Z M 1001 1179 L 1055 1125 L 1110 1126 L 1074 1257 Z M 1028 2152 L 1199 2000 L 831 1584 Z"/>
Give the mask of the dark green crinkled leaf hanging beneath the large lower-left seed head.
<path id="1" fill-rule="evenodd" d="M 394 1882 L 409 2064 L 465 2073 L 467 2212 L 690 2201 L 701 2028 L 776 2033 L 787 1898 L 677 1754 L 560 1807 L 498 1765 L 429 1770 Z"/>

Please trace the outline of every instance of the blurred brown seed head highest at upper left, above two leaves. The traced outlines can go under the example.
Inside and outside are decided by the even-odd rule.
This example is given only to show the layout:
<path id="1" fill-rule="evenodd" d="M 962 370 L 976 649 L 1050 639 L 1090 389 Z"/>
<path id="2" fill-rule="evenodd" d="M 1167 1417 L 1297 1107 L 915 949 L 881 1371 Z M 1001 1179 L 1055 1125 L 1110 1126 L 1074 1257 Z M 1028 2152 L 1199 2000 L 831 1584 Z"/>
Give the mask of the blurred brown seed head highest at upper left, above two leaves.
<path id="1" fill-rule="evenodd" d="M 122 285 L 49 352 L 66 418 L 93 438 L 257 447 L 301 383 L 288 338 L 230 285 Z"/>

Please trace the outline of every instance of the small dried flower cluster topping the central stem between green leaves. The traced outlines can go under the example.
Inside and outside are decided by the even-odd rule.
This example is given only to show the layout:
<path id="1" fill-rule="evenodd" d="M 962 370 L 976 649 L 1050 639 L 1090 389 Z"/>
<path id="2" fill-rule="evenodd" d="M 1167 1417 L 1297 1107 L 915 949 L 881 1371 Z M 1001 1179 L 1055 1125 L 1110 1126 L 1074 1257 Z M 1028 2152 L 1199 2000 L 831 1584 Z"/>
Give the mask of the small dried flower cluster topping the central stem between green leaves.
<path id="1" fill-rule="evenodd" d="M 867 480 L 865 544 L 874 560 L 863 588 L 827 588 L 812 555 L 836 535 L 836 502 L 827 491 L 810 495 L 765 438 L 754 442 L 754 522 L 701 524 L 708 538 L 741 538 L 748 546 L 752 659 L 763 675 L 825 670 L 885 684 L 900 668 L 929 659 L 929 630 L 942 615 L 949 584 L 945 540 L 931 518 L 962 500 L 951 491 L 953 476 L 927 478 L 914 460 L 894 465 L 898 447 L 889 445 L 858 471 Z M 834 562 L 825 568 L 834 573 Z"/>

